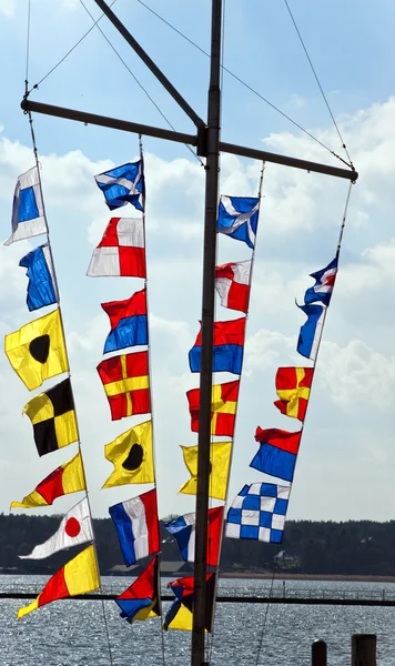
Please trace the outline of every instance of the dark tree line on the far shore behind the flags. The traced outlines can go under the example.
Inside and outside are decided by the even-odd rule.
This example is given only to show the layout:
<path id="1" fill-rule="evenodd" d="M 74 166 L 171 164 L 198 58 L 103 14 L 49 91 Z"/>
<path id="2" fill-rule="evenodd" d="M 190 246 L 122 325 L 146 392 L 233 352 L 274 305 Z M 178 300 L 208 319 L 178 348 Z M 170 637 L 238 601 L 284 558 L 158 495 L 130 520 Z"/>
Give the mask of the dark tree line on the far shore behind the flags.
<path id="1" fill-rule="evenodd" d="M 58 528 L 61 516 L 0 514 L 0 571 L 52 573 L 70 558 L 64 552 L 48 559 L 19 559 Z M 94 533 L 102 574 L 123 564 L 111 518 L 94 518 Z M 180 562 L 175 539 L 161 521 L 163 562 Z M 75 553 L 77 553 L 75 548 Z M 221 571 L 242 573 L 276 571 L 301 574 L 395 575 L 395 521 L 287 521 L 282 544 L 224 538 Z"/>

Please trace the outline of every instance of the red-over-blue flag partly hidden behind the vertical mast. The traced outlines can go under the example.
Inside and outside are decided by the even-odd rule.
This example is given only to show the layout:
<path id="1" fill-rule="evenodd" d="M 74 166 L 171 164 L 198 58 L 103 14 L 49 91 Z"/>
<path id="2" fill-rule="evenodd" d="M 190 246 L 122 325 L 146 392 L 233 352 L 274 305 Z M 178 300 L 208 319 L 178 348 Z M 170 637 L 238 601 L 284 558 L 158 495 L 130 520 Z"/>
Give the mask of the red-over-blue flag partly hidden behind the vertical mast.
<path id="1" fill-rule="evenodd" d="M 245 316 L 230 322 L 214 322 L 213 372 L 242 374 Z M 190 351 L 191 372 L 200 372 L 202 331 Z"/>

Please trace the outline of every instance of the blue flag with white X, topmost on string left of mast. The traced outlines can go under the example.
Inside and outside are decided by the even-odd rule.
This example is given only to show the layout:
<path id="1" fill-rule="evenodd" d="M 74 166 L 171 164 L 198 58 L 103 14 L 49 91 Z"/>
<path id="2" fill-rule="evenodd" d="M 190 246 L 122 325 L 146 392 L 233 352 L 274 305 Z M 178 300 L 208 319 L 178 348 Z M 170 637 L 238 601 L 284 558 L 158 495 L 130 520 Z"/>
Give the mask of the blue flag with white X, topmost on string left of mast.
<path id="1" fill-rule="evenodd" d="M 144 210 L 143 161 L 128 162 L 94 176 L 104 194 L 110 211 L 132 203 L 138 211 Z"/>

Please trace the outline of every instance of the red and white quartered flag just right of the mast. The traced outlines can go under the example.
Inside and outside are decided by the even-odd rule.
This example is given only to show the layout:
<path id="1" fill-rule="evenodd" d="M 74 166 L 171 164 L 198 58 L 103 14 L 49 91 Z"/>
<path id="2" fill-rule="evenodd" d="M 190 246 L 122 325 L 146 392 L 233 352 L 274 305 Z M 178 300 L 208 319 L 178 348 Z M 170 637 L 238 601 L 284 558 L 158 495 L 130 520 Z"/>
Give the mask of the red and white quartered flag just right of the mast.
<path id="1" fill-rule="evenodd" d="M 222 264 L 215 269 L 215 289 L 221 305 L 247 312 L 250 301 L 251 261 Z"/>

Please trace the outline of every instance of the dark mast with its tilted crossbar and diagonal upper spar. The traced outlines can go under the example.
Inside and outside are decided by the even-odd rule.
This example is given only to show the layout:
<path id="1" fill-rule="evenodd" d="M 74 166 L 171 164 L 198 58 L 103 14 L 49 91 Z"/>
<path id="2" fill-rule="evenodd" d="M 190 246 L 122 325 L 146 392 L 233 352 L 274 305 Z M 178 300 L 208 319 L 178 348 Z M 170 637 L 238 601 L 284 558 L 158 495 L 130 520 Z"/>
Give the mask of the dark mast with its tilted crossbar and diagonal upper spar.
<path id="1" fill-rule="evenodd" d="M 358 178 L 354 169 L 338 169 L 278 155 L 262 150 L 223 143 L 220 141 L 221 117 L 221 34 L 222 34 L 222 0 L 212 0 L 211 26 L 211 73 L 207 99 L 207 122 L 205 123 L 180 92 L 172 85 L 160 68 L 151 60 L 148 53 L 132 37 L 129 30 L 118 19 L 104 0 L 94 0 L 102 12 L 109 18 L 122 37 L 128 41 L 141 60 L 152 71 L 165 90 L 178 102 L 196 127 L 196 134 L 185 134 L 163 130 L 134 122 L 107 118 L 93 113 L 64 109 L 29 100 L 22 100 L 24 111 L 36 111 L 47 115 L 54 115 L 69 120 L 77 120 L 87 124 L 113 128 L 126 132 L 166 139 L 196 147 L 199 155 L 205 162 L 205 213 L 204 213 L 204 252 L 203 252 L 203 284 L 202 284 L 202 352 L 200 374 L 200 421 L 199 421 L 199 452 L 198 452 L 198 491 L 196 491 L 196 525 L 195 525 L 195 564 L 194 564 L 194 613 L 192 632 L 192 666 L 207 666 L 204 662 L 206 626 L 206 536 L 209 511 L 209 483 L 210 483 L 210 447 L 211 447 L 211 393 L 212 393 L 212 364 L 213 364 L 213 322 L 214 322 L 214 283 L 216 258 L 216 210 L 219 200 L 219 160 L 220 152 L 227 152 L 241 157 L 252 158 L 276 164 L 284 164 L 305 171 L 334 175 L 355 182 Z"/>

